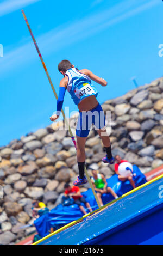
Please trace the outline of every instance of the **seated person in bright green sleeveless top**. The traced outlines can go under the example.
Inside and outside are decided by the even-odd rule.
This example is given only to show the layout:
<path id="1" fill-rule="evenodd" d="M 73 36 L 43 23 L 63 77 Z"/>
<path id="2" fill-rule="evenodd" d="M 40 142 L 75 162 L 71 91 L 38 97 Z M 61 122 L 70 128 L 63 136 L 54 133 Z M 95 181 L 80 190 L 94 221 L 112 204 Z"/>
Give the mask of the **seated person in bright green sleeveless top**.
<path id="1" fill-rule="evenodd" d="M 103 174 L 97 173 L 97 170 L 92 170 L 92 175 L 93 177 L 91 178 L 91 181 L 101 206 L 104 205 L 102 202 L 102 194 L 111 193 L 115 199 L 118 198 L 117 194 L 112 190 L 112 188 L 107 187 L 108 184 Z"/>

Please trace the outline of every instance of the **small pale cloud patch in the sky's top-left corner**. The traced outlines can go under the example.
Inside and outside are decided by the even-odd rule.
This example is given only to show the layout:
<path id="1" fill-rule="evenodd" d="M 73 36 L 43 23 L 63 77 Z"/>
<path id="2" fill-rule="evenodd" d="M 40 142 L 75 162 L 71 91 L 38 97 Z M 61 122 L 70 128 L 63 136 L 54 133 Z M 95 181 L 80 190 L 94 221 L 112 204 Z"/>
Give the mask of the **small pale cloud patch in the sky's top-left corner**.
<path id="1" fill-rule="evenodd" d="M 41 0 L 7 0 L 0 3 L 0 17 Z"/>

